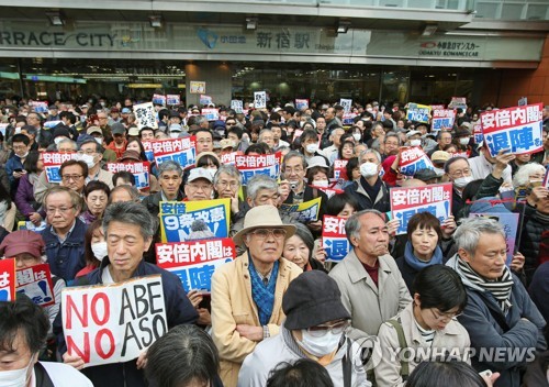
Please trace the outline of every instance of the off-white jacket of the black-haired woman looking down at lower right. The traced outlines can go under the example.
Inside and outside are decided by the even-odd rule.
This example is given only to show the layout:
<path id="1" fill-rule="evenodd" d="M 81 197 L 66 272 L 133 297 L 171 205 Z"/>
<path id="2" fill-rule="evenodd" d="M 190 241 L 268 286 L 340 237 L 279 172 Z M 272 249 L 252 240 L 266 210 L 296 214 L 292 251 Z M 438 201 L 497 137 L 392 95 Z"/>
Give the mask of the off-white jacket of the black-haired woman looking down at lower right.
<path id="1" fill-rule="evenodd" d="M 411 302 L 393 320 L 401 322 L 406 339 L 406 347 L 410 349 L 401 353 L 402 360 L 407 361 L 408 371 L 414 368 L 423 360 L 437 357 L 447 354 L 453 360 L 462 360 L 470 363 L 468 349 L 471 344 L 469 333 L 457 320 L 451 320 L 444 330 L 435 332 L 435 339 L 429 347 L 424 343 L 422 333 L 417 329 L 414 319 L 414 305 Z M 405 383 L 401 377 L 401 357 L 399 336 L 393 325 L 389 323 L 381 324 L 379 329 L 379 347 L 381 349 L 381 358 L 374 367 L 376 383 L 380 387 L 403 387 Z M 418 351 L 422 349 L 423 351 Z"/>

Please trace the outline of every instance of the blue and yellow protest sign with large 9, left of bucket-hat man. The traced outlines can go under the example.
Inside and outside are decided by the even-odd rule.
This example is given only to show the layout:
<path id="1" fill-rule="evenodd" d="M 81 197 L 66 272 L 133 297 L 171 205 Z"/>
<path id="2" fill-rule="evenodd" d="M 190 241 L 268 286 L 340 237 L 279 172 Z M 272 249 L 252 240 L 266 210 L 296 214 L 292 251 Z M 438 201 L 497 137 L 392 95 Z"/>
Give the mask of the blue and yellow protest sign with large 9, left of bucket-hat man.
<path id="1" fill-rule="evenodd" d="M 204 221 L 215 237 L 227 237 L 231 220 L 231 199 L 199 201 L 160 201 L 160 230 L 163 242 L 184 242 L 191 225 Z"/>

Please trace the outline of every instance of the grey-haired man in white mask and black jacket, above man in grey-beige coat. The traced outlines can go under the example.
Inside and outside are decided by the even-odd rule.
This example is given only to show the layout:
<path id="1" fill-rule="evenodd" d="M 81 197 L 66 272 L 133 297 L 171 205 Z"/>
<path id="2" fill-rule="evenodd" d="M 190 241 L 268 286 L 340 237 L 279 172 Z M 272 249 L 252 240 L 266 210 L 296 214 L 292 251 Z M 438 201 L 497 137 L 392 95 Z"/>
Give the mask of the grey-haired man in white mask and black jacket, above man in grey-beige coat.
<path id="1" fill-rule="evenodd" d="M 352 181 L 345 191 L 352 195 L 361 210 L 378 210 L 388 212 L 391 209 L 389 189 L 380 177 L 381 155 L 378 151 L 368 150 L 359 157 L 360 178 Z"/>

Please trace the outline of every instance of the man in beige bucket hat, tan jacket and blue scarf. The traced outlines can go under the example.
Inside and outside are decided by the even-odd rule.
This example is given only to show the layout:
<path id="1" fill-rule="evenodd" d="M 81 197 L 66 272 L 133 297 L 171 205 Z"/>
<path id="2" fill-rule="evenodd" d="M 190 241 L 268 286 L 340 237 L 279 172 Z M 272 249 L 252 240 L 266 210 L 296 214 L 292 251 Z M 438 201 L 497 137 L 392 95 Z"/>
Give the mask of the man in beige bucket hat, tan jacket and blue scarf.
<path id="1" fill-rule="evenodd" d="M 279 333 L 285 318 L 282 296 L 302 273 L 282 258 L 284 241 L 294 233 L 276 207 L 254 207 L 233 237 L 246 252 L 212 276 L 212 338 L 226 387 L 236 387 L 242 362 L 257 343 Z"/>

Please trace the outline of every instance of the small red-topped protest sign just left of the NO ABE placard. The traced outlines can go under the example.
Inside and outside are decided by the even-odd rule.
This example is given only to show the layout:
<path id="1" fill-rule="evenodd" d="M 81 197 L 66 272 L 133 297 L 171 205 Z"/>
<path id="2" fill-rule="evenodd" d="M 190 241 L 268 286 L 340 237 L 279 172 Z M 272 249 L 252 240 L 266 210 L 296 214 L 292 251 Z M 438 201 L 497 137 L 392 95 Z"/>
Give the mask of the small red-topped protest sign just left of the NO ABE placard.
<path id="1" fill-rule="evenodd" d="M 34 265 L 15 272 L 16 291 L 41 307 L 55 303 L 54 284 L 48 264 Z"/>

